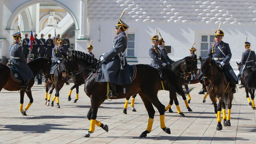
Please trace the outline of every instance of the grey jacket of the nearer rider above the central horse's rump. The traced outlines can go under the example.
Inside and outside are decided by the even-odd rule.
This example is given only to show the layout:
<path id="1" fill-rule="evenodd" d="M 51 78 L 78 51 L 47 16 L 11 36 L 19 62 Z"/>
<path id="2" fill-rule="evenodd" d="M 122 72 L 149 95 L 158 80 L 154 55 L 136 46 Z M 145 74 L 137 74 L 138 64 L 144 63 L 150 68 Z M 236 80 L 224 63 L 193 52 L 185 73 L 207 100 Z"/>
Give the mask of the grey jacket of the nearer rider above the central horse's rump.
<path id="1" fill-rule="evenodd" d="M 154 68 L 157 68 L 157 69 L 162 67 L 162 63 L 164 63 L 164 62 L 163 62 L 163 60 L 161 60 L 161 57 L 162 57 L 161 56 L 161 51 L 158 47 L 152 45 L 151 48 L 148 51 L 148 54 L 151 58 L 151 65 L 150 65 L 151 67 L 154 67 Z"/>

